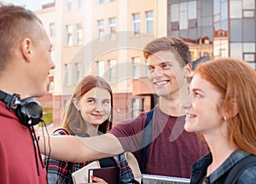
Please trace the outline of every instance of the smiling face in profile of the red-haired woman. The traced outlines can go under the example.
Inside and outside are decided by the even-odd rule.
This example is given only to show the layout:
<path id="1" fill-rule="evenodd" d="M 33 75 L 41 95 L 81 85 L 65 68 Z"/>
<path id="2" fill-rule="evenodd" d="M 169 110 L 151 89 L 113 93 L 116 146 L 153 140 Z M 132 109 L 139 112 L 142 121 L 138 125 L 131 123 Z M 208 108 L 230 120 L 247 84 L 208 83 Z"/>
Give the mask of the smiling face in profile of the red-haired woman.
<path id="1" fill-rule="evenodd" d="M 192 79 L 191 88 L 192 93 L 182 103 L 186 110 L 184 129 L 203 135 L 219 132 L 223 126 L 223 116 L 217 106 L 221 104 L 222 95 L 199 74 Z"/>

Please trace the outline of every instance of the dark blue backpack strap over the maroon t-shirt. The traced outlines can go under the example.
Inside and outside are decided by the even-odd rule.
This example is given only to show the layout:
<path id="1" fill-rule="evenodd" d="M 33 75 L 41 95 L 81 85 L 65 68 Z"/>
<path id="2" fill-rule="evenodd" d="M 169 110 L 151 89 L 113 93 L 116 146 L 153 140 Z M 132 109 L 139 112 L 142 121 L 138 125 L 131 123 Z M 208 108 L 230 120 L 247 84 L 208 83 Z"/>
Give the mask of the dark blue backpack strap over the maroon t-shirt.
<path id="1" fill-rule="evenodd" d="M 152 118 L 154 114 L 154 109 L 151 109 L 149 112 L 147 112 L 147 121 L 145 123 L 144 129 L 143 129 L 143 140 L 142 140 L 142 149 L 141 149 L 141 162 L 140 162 L 140 168 L 143 174 L 147 173 L 146 170 L 146 164 L 148 161 L 148 147 L 152 141 Z"/>

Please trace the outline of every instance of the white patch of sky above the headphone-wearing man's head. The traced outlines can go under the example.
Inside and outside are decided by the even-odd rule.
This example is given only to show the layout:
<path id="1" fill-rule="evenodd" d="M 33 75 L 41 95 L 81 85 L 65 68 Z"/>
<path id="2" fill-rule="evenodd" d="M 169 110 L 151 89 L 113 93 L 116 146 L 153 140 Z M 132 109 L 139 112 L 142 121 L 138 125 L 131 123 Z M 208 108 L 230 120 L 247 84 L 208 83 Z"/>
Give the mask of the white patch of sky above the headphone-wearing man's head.
<path id="1" fill-rule="evenodd" d="M 31 9 L 33 11 L 42 9 L 42 4 L 52 3 L 54 0 L 0 0 L 0 2 L 13 3 L 15 5 L 25 6 L 26 9 Z"/>

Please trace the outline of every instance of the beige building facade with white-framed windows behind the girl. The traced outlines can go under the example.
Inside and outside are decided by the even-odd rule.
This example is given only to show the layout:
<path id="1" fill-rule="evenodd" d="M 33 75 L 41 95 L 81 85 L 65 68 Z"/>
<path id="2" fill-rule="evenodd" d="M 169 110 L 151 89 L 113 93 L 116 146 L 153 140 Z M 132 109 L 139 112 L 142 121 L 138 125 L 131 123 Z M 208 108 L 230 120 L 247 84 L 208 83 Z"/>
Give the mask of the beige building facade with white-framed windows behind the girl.
<path id="1" fill-rule="evenodd" d="M 114 123 L 150 109 L 153 91 L 142 50 L 166 36 L 166 6 L 166 0 L 55 0 L 36 12 L 55 47 L 54 124 L 61 124 L 70 95 L 89 74 L 111 85 Z"/>

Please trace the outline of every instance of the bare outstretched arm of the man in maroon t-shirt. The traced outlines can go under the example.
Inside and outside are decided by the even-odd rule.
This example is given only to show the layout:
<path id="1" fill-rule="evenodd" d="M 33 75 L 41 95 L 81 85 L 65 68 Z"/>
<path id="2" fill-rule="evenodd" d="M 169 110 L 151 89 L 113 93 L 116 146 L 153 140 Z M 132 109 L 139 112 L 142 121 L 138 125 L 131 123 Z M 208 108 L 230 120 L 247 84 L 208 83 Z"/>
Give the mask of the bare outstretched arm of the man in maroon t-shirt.
<path id="1" fill-rule="evenodd" d="M 40 152 L 61 161 L 80 163 L 124 152 L 119 140 L 109 133 L 83 138 L 73 135 L 39 136 Z"/>

